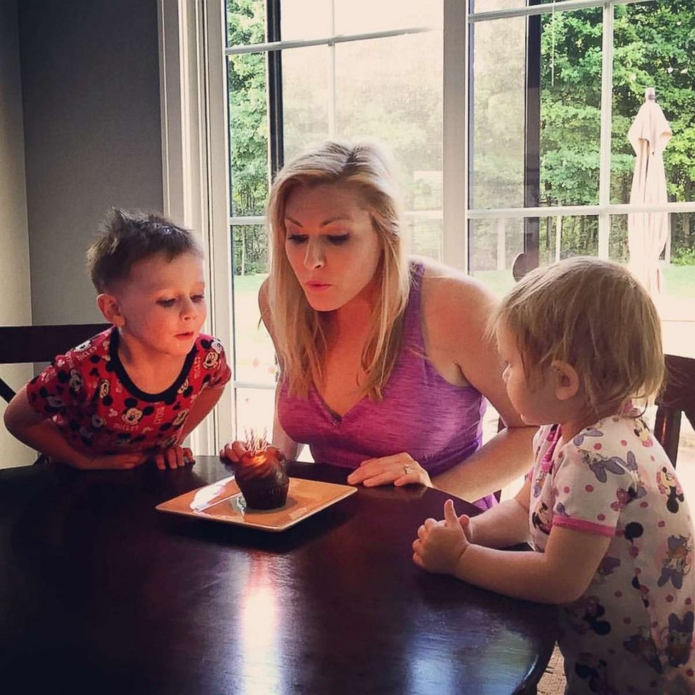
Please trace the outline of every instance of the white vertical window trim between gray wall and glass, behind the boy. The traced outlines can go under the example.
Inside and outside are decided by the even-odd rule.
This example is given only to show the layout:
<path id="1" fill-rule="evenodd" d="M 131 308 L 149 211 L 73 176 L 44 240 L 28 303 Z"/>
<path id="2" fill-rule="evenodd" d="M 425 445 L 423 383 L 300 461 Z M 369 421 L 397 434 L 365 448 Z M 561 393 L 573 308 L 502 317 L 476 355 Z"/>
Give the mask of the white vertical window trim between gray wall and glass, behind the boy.
<path id="1" fill-rule="evenodd" d="M 191 228 L 205 251 L 208 317 L 203 330 L 233 345 L 228 240 L 226 60 L 220 2 L 158 0 L 163 213 Z M 228 355 L 228 359 L 233 359 Z M 233 435 L 234 399 L 225 389 L 191 434 L 213 454 Z"/>

